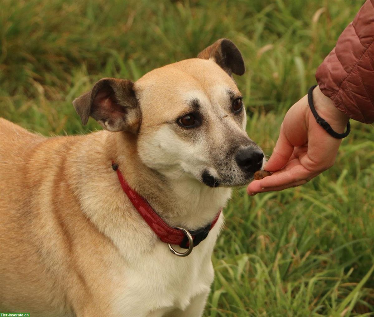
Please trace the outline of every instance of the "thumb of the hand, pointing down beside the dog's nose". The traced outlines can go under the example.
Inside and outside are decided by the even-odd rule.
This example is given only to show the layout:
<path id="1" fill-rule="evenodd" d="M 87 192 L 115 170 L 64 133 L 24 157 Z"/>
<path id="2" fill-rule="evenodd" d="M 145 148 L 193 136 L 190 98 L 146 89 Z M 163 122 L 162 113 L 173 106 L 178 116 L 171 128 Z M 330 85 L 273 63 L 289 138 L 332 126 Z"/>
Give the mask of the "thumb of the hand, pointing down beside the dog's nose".
<path id="1" fill-rule="evenodd" d="M 280 170 L 286 165 L 293 151 L 294 146 L 288 141 L 282 124 L 278 141 L 275 144 L 272 156 L 270 156 L 269 161 L 264 166 L 264 170 L 269 172 Z"/>

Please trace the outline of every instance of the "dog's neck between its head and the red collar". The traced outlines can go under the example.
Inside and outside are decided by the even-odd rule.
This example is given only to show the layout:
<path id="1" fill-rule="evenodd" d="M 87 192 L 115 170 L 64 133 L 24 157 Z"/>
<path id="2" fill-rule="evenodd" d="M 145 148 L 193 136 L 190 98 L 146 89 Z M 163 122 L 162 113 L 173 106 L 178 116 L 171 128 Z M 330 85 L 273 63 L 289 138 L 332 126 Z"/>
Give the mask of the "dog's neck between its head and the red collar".
<path id="1" fill-rule="evenodd" d="M 140 160 L 135 136 L 109 133 L 108 153 L 130 187 L 147 199 L 171 227 L 196 230 L 210 223 L 231 196 L 230 188 L 211 188 L 180 170 L 154 171 Z"/>

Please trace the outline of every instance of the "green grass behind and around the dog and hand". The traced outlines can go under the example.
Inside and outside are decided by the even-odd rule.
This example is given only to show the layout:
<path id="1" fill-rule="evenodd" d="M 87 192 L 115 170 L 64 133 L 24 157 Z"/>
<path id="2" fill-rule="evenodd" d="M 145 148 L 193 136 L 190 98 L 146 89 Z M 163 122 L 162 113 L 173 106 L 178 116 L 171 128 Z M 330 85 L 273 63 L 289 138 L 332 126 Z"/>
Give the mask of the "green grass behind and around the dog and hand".
<path id="1" fill-rule="evenodd" d="M 2 0 L 0 116 L 44 135 L 82 127 L 71 101 L 232 39 L 248 133 L 267 154 L 286 110 L 364 1 Z M 352 123 L 335 166 L 299 188 L 237 190 L 204 316 L 374 316 L 374 130 Z"/>

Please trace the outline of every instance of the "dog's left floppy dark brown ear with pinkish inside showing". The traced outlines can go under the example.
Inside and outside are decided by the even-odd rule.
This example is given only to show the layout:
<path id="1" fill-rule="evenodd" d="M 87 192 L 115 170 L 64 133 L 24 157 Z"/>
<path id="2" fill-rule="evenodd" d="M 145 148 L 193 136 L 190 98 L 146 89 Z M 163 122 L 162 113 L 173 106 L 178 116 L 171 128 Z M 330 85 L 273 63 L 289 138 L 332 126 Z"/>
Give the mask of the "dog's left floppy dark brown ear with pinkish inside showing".
<path id="1" fill-rule="evenodd" d="M 91 116 L 113 132 L 137 133 L 140 127 L 141 112 L 131 80 L 100 79 L 89 92 L 74 99 L 73 105 L 83 125 Z"/>

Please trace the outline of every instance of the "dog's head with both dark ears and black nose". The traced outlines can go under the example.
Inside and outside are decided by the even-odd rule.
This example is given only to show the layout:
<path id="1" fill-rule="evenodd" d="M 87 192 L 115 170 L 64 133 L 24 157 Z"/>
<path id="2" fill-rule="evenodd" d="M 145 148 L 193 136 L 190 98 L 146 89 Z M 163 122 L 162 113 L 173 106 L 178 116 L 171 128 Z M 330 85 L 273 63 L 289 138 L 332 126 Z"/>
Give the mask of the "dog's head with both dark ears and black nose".
<path id="1" fill-rule="evenodd" d="M 182 174 L 210 187 L 245 185 L 264 155 L 245 132 L 242 94 L 232 74 L 245 66 L 235 44 L 221 39 L 133 83 L 104 78 L 73 101 L 83 124 L 137 135 L 142 162 L 168 178 Z"/>

